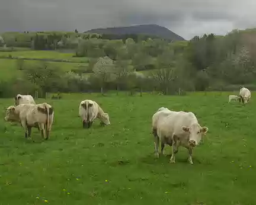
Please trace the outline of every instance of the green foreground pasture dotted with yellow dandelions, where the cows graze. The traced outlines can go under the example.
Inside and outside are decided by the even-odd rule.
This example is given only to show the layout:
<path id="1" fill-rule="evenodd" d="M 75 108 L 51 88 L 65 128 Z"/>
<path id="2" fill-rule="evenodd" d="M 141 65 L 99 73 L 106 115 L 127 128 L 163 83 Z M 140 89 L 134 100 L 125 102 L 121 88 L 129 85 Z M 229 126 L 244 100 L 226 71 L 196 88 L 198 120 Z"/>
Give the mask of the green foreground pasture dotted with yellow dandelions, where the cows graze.
<path id="1" fill-rule="evenodd" d="M 34 143 L 20 126 L 4 122 L 13 101 L 1 100 L 0 204 L 256 204 L 255 93 L 246 106 L 228 104 L 229 94 L 65 94 L 47 100 L 55 107 L 52 132 L 42 142 L 34 129 Z M 100 127 L 97 120 L 82 129 L 84 99 L 97 101 L 111 125 Z M 209 128 L 194 150 L 194 165 L 185 148 L 176 164 L 169 164 L 170 156 L 154 158 L 151 117 L 162 106 L 193 111 Z"/>

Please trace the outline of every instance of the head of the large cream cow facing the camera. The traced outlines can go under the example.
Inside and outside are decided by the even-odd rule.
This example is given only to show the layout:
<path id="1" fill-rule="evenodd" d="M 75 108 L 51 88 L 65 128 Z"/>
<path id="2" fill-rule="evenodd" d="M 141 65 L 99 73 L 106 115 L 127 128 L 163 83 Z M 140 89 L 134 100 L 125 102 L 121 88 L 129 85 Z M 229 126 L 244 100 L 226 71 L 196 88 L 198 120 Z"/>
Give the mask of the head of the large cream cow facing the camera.
<path id="1" fill-rule="evenodd" d="M 189 133 L 188 144 L 191 147 L 195 147 L 200 143 L 201 134 L 206 134 L 207 127 L 201 127 L 198 123 L 191 124 L 191 126 L 182 126 L 184 132 Z"/>

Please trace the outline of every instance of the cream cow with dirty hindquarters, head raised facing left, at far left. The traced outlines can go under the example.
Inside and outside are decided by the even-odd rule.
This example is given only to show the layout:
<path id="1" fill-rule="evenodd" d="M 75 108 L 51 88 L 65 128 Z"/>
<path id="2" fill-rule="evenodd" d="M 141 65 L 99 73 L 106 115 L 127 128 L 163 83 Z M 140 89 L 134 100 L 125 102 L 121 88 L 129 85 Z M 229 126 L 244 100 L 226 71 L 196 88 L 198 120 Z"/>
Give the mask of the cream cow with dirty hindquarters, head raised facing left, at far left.
<path id="1" fill-rule="evenodd" d="M 25 137 L 31 138 L 31 128 L 39 127 L 41 136 L 49 138 L 49 133 L 53 124 L 53 107 L 46 102 L 41 104 L 20 104 L 9 106 L 5 116 L 5 121 L 20 122 L 25 130 Z"/>

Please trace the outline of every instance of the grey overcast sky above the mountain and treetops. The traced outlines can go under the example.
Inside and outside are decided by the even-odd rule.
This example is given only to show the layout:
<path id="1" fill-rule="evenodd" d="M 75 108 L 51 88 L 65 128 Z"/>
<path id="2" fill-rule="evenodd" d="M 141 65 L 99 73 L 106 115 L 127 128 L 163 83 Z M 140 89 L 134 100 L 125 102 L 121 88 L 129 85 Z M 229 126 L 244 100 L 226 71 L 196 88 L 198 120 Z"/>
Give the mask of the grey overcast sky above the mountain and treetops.
<path id="1" fill-rule="evenodd" d="M 256 27 L 256 0 L 1 0 L 0 32 L 158 24 L 185 39 Z"/>

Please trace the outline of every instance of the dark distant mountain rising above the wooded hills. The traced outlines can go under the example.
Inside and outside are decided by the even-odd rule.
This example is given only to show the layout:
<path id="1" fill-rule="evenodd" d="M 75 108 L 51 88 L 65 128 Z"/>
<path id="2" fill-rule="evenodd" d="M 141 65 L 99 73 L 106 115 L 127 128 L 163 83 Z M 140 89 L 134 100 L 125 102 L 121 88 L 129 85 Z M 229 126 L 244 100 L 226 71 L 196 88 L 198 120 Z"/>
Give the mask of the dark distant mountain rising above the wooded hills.
<path id="1" fill-rule="evenodd" d="M 161 39 L 167 40 L 185 40 L 183 39 L 183 37 L 178 36 L 169 29 L 156 24 L 132 25 L 127 27 L 96 28 L 85 31 L 84 33 L 113 34 L 118 36 L 123 36 L 126 34 L 144 34 L 148 36 L 157 36 Z"/>

